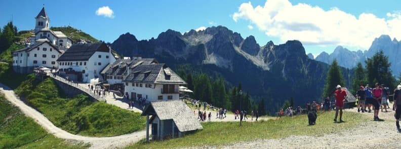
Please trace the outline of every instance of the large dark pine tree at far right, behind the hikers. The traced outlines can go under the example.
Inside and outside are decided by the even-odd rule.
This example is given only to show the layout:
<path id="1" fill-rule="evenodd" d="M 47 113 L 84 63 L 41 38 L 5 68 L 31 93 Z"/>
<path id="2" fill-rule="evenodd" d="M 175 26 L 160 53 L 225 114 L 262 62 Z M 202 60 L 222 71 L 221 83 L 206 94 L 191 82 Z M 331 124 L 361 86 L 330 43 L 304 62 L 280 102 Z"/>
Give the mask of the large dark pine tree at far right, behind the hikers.
<path id="1" fill-rule="evenodd" d="M 389 88 L 395 87 L 395 78 L 391 74 L 388 56 L 385 56 L 383 51 L 376 52 L 373 57 L 366 61 L 366 70 L 368 73 L 367 80 L 371 84 L 384 84 Z"/>

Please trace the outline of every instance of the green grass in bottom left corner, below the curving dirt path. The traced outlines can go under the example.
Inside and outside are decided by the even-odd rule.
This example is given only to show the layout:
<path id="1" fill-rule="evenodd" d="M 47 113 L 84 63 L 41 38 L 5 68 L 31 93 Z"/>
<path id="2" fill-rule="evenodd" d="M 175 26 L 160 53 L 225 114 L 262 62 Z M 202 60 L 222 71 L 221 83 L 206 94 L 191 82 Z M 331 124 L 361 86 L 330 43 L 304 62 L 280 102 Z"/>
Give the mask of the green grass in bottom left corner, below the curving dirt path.
<path id="1" fill-rule="evenodd" d="M 0 148 L 84 148 L 55 138 L 0 94 Z"/>

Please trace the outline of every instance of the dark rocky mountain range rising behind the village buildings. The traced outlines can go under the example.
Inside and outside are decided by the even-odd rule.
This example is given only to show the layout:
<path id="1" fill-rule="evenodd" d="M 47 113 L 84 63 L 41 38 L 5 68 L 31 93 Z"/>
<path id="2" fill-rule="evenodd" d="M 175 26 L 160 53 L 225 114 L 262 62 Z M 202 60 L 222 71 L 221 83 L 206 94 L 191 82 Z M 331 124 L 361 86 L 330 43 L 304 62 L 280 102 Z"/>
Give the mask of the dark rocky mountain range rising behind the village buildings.
<path id="1" fill-rule="evenodd" d="M 168 29 L 156 39 L 141 41 L 125 33 L 110 45 L 124 56 L 153 57 L 172 68 L 190 65 L 188 71 L 193 73 L 218 74 L 228 86 L 240 82 L 254 99 L 266 99 L 270 111 L 290 98 L 297 105 L 320 99 L 329 68 L 309 59 L 299 41 L 280 45 L 269 41 L 260 46 L 254 36 L 244 39 L 224 26 L 184 34 Z M 344 76 L 349 76 L 350 70 L 342 69 Z"/>

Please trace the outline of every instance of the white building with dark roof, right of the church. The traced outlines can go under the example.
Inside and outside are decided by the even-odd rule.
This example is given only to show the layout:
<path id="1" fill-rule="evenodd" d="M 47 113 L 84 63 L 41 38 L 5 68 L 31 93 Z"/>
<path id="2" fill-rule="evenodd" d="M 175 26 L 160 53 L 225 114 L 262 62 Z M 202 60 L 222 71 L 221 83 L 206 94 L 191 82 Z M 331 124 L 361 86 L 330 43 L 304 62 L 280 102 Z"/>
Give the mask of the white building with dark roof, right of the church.
<path id="1" fill-rule="evenodd" d="M 74 44 L 58 59 L 58 71 L 70 80 L 86 83 L 105 81 L 100 72 L 115 61 L 111 48 L 105 43 Z"/>

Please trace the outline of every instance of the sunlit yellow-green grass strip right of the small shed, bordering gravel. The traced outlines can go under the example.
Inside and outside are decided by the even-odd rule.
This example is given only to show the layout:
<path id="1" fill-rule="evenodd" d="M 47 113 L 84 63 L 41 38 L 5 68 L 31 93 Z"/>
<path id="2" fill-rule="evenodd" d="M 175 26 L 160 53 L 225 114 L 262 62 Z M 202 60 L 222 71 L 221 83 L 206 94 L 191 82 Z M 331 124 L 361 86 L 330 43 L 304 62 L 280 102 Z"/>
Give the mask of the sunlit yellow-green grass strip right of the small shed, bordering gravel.
<path id="1" fill-rule="evenodd" d="M 278 120 L 245 122 L 202 123 L 204 129 L 182 138 L 151 143 L 136 143 L 127 148 L 177 148 L 203 145 L 223 145 L 255 139 L 283 138 L 291 135 L 321 136 L 357 126 L 368 118 L 357 113 L 344 113 L 345 123 L 333 123 L 334 112 L 319 113 L 316 125 L 307 125 L 307 116 L 284 117 Z M 235 131 L 233 131 L 235 130 Z M 202 141 L 199 141 L 201 139 Z"/>

